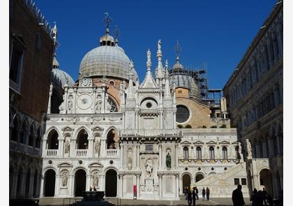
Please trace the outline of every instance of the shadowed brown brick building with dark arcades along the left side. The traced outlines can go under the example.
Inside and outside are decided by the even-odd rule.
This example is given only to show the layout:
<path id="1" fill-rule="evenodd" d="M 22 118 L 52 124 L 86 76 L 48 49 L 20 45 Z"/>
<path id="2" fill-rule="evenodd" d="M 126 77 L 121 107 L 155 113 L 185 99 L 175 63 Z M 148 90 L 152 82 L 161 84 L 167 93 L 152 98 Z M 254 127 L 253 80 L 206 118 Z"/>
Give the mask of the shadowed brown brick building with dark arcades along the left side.
<path id="1" fill-rule="evenodd" d="M 11 0 L 9 9 L 9 198 L 36 198 L 54 38 L 34 3 Z"/>

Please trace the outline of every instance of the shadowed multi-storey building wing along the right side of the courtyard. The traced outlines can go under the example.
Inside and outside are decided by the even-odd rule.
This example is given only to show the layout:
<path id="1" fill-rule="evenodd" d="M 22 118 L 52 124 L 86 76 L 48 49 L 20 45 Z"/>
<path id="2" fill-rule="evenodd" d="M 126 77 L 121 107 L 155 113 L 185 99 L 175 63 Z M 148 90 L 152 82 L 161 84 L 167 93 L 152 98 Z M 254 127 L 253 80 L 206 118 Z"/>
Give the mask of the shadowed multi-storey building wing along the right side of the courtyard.
<path id="1" fill-rule="evenodd" d="M 278 1 L 225 84 L 231 124 L 248 139 L 250 189 L 283 189 L 283 2 Z M 245 154 L 246 156 L 248 154 Z"/>

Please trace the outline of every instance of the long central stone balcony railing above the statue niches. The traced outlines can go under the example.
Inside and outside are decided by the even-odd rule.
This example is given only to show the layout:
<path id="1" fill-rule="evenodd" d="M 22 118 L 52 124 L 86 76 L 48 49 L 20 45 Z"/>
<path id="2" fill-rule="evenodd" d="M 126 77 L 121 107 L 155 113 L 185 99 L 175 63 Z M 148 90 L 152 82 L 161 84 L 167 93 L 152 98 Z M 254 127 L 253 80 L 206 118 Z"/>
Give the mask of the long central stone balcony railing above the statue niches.
<path id="1" fill-rule="evenodd" d="M 119 131 L 120 136 L 172 136 L 181 135 L 182 131 L 179 129 L 122 129 Z"/>

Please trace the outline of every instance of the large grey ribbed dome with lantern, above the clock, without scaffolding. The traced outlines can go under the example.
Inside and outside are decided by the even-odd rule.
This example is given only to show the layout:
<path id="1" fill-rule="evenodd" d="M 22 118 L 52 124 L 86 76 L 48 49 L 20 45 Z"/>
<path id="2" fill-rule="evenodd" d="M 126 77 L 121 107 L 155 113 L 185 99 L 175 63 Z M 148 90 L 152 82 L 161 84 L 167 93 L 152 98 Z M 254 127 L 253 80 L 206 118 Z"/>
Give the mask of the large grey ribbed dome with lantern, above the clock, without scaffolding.
<path id="1" fill-rule="evenodd" d="M 80 78 L 108 76 L 128 80 L 130 59 L 124 50 L 114 42 L 109 30 L 100 38 L 100 46 L 87 52 L 80 63 Z M 134 80 L 137 79 L 136 71 Z"/>

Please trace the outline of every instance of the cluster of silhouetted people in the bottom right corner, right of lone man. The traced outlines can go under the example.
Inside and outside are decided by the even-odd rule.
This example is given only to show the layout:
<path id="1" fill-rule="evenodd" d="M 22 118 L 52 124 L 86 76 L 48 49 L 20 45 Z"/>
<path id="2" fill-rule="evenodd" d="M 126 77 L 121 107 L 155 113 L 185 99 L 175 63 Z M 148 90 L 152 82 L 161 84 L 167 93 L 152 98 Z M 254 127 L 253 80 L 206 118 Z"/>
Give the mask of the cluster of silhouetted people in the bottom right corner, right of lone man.
<path id="1" fill-rule="evenodd" d="M 253 189 L 250 201 L 253 201 L 253 206 L 273 205 L 273 198 L 263 188 L 262 191 Z"/>

